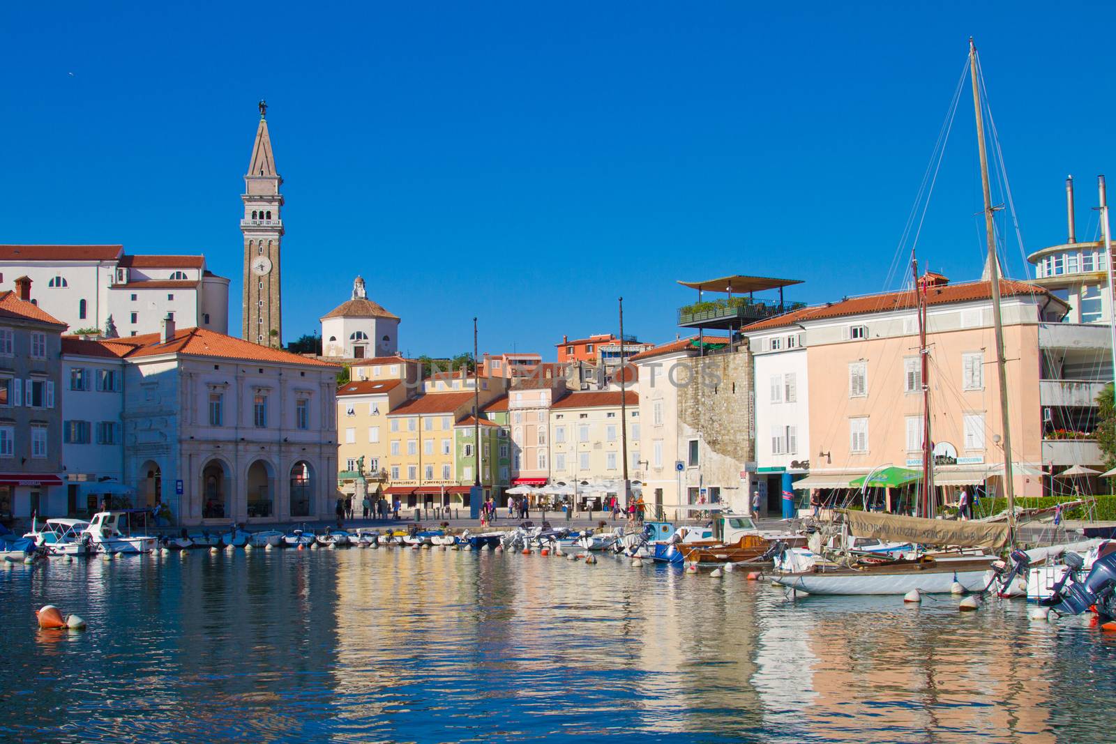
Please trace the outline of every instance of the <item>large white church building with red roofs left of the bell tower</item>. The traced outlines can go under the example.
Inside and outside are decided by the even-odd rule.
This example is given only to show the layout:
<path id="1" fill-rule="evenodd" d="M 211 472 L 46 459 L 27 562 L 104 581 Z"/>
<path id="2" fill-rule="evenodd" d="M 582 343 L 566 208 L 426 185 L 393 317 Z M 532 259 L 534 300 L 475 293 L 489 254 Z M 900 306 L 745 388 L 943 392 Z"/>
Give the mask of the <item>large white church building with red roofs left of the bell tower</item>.
<path id="1" fill-rule="evenodd" d="M 121 336 L 158 332 L 167 312 L 182 327 L 229 330 L 229 280 L 201 255 L 126 255 L 121 245 L 0 245 L 0 290 L 19 276 L 35 282 L 36 302 L 71 331 Z"/>

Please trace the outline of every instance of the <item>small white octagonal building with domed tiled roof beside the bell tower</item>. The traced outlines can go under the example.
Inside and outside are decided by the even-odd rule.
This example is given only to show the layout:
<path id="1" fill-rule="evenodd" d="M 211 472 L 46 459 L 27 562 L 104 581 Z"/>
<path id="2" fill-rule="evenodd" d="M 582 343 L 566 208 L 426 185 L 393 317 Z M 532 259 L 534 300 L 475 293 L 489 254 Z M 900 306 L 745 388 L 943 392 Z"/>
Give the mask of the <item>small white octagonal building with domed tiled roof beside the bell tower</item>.
<path id="1" fill-rule="evenodd" d="M 321 317 L 321 354 L 338 359 L 393 356 L 398 351 L 398 316 L 369 300 L 358 276 L 353 298 Z"/>

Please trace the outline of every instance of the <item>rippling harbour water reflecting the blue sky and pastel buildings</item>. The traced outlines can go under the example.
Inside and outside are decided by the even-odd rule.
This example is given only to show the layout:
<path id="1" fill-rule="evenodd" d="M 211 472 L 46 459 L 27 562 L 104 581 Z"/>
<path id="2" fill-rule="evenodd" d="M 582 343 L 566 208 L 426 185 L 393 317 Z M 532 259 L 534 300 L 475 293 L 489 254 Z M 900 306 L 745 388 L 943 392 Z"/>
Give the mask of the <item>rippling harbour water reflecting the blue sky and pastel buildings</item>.
<path id="1" fill-rule="evenodd" d="M 85 632 L 40 631 L 58 605 Z M 0 573 L 2 741 L 1113 741 L 1116 634 L 603 558 L 256 550 Z"/>

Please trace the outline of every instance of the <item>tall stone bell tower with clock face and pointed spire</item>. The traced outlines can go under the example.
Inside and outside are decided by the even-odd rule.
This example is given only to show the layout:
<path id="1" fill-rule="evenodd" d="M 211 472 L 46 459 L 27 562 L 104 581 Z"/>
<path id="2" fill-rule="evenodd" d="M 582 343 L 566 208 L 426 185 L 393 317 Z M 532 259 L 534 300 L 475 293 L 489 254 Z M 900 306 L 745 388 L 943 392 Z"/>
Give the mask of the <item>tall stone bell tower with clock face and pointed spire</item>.
<path id="1" fill-rule="evenodd" d="M 252 161 L 244 175 L 243 338 L 262 346 L 282 346 L 282 305 L 279 297 L 279 243 L 282 240 L 282 178 L 276 171 L 268 133 L 268 104 L 260 102 Z"/>

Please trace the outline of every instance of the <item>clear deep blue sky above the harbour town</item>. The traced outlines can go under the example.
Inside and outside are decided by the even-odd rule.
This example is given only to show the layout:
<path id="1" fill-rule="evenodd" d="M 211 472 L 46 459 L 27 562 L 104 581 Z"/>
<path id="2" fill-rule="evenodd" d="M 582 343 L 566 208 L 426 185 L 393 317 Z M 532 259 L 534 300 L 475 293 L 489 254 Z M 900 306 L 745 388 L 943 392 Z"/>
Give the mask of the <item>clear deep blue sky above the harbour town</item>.
<path id="1" fill-rule="evenodd" d="M 362 273 L 402 349 L 673 338 L 677 279 L 888 280 L 965 62 L 981 51 L 1028 251 L 1096 234 L 1116 177 L 1105 6 L 8 3 L 0 242 L 203 252 L 240 328 L 242 176 L 270 104 L 287 340 Z M 73 73 L 73 75 L 70 75 Z M 997 197 L 999 201 L 1001 197 Z M 920 242 L 981 270 L 971 94 Z M 1012 238 L 1006 261 L 1024 272 Z"/>

